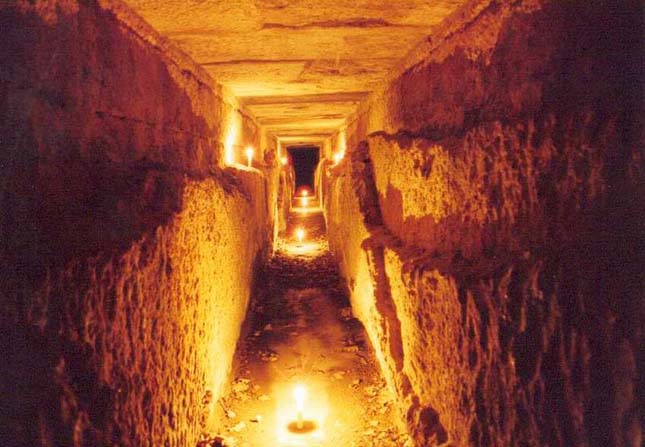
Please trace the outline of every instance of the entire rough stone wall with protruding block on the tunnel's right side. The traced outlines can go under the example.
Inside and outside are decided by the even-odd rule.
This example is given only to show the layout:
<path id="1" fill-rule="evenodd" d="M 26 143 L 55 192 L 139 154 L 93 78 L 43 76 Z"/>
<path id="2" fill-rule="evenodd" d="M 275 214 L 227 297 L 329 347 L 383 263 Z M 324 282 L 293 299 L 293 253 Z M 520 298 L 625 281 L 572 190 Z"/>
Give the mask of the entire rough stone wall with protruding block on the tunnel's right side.
<path id="1" fill-rule="evenodd" d="M 641 445 L 642 5 L 464 11 L 348 128 L 355 312 L 418 445 Z"/>

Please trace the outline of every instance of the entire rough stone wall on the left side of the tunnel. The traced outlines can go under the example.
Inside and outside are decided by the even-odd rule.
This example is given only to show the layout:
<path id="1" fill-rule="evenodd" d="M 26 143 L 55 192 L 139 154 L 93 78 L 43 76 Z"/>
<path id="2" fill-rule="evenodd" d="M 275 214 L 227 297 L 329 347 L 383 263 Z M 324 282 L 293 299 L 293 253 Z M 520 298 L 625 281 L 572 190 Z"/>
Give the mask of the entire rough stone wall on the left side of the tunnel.
<path id="1" fill-rule="evenodd" d="M 239 111 L 118 2 L 0 28 L 1 443 L 191 445 L 271 237 L 263 176 L 218 167 Z"/>

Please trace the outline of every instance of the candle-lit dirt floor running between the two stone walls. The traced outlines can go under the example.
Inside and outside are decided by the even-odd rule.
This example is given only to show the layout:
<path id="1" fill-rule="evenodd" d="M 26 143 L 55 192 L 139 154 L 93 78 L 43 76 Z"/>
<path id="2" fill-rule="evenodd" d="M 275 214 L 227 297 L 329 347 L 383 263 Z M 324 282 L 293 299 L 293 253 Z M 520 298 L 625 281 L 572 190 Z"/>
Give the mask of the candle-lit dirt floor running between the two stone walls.
<path id="1" fill-rule="evenodd" d="M 411 445 L 363 326 L 351 315 L 315 201 L 294 208 L 251 306 L 234 379 L 219 402 L 222 445 Z M 304 394 L 300 425 L 296 387 Z"/>

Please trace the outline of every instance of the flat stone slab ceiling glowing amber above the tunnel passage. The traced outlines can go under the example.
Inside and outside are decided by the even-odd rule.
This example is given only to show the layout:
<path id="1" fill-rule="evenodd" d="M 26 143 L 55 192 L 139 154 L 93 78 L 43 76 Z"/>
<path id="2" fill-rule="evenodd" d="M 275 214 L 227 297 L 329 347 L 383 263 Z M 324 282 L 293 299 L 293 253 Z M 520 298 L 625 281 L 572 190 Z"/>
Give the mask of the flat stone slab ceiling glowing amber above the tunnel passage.
<path id="1" fill-rule="evenodd" d="M 464 0 L 126 0 L 270 135 L 324 138 Z"/>

